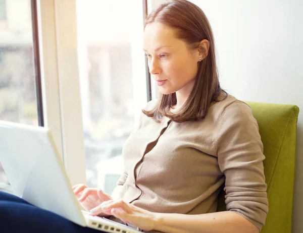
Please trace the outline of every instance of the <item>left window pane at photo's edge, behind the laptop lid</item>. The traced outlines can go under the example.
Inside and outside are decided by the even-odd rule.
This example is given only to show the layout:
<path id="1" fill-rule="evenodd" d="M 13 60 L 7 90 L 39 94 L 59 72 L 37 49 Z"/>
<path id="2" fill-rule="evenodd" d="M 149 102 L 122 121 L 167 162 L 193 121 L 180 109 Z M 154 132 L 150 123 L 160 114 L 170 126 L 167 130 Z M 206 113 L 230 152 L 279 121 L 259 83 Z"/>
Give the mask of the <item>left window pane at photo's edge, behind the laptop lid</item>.
<path id="1" fill-rule="evenodd" d="M 0 0 L 0 19 L 5 3 Z M 38 125 L 30 1 L 22 1 L 22 10 L 7 7 L 14 24 L 0 29 L 0 120 Z M 10 191 L 1 161 L 0 190 Z"/>

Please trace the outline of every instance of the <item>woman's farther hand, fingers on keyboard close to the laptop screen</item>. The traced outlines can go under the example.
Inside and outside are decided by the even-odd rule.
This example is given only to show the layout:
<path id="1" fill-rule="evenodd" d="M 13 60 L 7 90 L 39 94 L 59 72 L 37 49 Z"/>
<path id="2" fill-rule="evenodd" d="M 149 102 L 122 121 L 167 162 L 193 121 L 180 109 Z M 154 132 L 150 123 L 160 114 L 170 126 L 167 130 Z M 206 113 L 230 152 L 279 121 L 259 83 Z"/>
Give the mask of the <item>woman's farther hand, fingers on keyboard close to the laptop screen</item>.
<path id="1" fill-rule="evenodd" d="M 86 211 L 90 211 L 102 203 L 108 204 L 113 201 L 110 195 L 97 188 L 88 188 L 83 184 L 75 185 L 72 188 L 79 203 Z M 110 215 L 110 211 L 98 214 L 101 217 L 108 217 Z"/>

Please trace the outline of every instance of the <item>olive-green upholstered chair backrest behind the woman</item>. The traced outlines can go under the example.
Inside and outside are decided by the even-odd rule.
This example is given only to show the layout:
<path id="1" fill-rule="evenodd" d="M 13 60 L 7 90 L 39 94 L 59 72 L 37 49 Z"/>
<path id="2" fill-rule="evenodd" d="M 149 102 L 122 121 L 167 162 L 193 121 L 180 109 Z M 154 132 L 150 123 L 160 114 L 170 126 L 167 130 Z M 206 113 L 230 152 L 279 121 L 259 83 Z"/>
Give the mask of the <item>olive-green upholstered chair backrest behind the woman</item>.
<path id="1" fill-rule="evenodd" d="M 291 233 L 296 125 L 296 105 L 246 102 L 259 125 L 264 145 L 264 173 L 269 212 L 262 233 Z M 219 194 L 218 211 L 226 210 L 225 192 Z"/>

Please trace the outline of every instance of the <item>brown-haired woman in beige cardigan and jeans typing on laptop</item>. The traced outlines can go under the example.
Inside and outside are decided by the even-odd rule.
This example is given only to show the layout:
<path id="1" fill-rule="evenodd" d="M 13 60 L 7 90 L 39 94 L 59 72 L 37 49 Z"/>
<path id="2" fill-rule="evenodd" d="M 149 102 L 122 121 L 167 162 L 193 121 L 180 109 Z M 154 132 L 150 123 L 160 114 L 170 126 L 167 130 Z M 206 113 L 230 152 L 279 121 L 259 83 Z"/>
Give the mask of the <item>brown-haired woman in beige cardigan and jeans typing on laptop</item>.
<path id="1" fill-rule="evenodd" d="M 185 0 L 159 6 L 146 18 L 143 50 L 160 97 L 124 145 L 125 171 L 112 197 L 76 185 L 79 202 L 91 215 L 145 232 L 259 232 L 268 200 L 258 124 L 248 105 L 220 88 L 205 14 Z M 216 212 L 224 184 L 227 211 Z M 93 231 L 46 212 L 68 231 Z"/>

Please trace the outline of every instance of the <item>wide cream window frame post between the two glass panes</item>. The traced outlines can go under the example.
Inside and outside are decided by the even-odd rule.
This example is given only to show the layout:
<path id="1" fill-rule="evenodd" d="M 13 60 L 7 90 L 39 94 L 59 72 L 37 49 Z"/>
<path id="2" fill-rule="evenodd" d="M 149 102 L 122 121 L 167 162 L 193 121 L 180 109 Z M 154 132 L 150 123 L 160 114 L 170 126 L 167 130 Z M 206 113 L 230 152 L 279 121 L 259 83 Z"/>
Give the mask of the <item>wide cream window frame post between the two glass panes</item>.
<path id="1" fill-rule="evenodd" d="M 76 1 L 38 1 L 37 13 L 45 127 L 51 129 L 71 184 L 86 184 Z"/>

